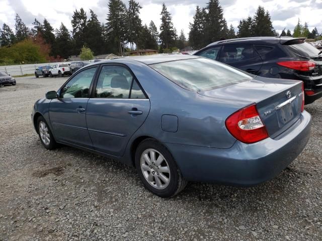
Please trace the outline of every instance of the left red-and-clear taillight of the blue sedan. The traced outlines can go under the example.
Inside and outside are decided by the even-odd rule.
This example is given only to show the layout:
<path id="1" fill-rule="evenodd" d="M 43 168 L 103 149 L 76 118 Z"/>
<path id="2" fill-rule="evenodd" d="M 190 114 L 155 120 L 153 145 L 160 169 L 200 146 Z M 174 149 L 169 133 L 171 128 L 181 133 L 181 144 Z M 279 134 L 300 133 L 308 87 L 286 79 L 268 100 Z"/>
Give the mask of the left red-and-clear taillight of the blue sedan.
<path id="1" fill-rule="evenodd" d="M 225 125 L 230 134 L 240 142 L 255 143 L 269 137 L 256 104 L 231 114 L 226 119 Z"/>

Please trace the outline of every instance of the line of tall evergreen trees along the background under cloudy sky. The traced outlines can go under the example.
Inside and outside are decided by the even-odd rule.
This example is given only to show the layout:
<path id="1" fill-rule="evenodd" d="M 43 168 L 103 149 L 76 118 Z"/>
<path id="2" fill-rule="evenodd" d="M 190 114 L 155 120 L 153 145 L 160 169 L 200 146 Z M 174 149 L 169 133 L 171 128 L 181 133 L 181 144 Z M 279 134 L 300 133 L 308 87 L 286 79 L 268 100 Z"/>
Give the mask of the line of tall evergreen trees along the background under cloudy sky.
<path id="1" fill-rule="evenodd" d="M 63 23 L 58 29 L 53 29 L 46 19 L 42 23 L 35 19 L 29 29 L 17 14 L 14 31 L 7 24 L 0 28 L 0 63 L 33 62 L 37 58 L 39 61 L 59 61 L 79 55 L 83 47 L 89 48 L 94 55 L 121 55 L 138 49 L 168 53 L 187 46 L 199 49 L 220 39 L 279 36 L 269 12 L 261 6 L 253 17 L 240 20 L 235 32 L 232 25 L 228 27 L 219 1 L 209 0 L 205 8 L 196 7 L 193 22 L 189 24 L 189 41 L 183 30 L 178 34 L 165 3 L 160 12 L 159 31 L 153 21 L 149 25 L 142 24 L 139 16 L 142 7 L 135 0 L 129 0 L 128 7 L 121 0 L 109 0 L 108 8 L 105 23 L 98 20 L 93 10 L 87 13 L 83 8 L 76 9 L 72 15 L 71 31 Z M 281 35 L 292 36 L 290 30 L 283 30 Z M 293 37 L 315 38 L 318 35 L 316 28 L 310 32 L 307 24 L 302 26 L 299 20 L 293 33 Z M 25 54 L 19 55 L 22 46 L 26 48 Z"/>

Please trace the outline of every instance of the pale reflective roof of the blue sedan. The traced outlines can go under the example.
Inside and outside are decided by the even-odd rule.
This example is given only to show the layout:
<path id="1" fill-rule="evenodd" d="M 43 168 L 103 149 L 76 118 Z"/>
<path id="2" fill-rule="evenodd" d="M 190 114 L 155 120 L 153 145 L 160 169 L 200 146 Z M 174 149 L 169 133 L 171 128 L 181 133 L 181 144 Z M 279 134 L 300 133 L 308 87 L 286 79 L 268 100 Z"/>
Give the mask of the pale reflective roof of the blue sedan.
<path id="1" fill-rule="evenodd" d="M 170 62 L 170 61 L 176 61 L 176 60 L 184 60 L 184 59 L 196 59 L 200 58 L 199 56 L 193 56 L 193 55 L 176 55 L 176 54 L 162 54 L 162 55 L 148 55 L 148 56 L 133 56 L 133 57 L 124 57 L 124 58 L 118 58 L 113 60 L 103 60 L 100 62 L 96 62 L 94 64 L 103 64 L 103 63 L 122 63 L 126 61 L 137 61 L 144 63 L 146 65 L 150 64 L 156 64 L 156 63 L 163 63 L 163 62 Z"/>

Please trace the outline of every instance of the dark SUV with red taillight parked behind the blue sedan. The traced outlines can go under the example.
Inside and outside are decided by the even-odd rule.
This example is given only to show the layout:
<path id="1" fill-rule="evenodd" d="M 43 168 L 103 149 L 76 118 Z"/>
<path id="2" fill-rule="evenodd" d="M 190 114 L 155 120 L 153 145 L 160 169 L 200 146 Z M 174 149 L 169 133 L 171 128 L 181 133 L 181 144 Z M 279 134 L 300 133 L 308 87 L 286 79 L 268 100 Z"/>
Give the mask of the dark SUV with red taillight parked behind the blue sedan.
<path id="1" fill-rule="evenodd" d="M 304 82 L 305 104 L 322 96 L 322 51 L 305 38 L 254 37 L 222 40 L 197 51 L 199 55 L 269 78 Z"/>

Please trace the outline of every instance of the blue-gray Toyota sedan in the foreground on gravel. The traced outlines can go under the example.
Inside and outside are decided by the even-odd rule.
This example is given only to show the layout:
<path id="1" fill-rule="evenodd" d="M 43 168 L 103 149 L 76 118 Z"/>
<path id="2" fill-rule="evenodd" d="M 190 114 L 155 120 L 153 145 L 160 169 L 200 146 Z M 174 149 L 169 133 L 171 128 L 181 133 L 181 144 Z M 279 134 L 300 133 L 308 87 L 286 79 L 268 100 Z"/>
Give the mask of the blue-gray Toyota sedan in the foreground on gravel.
<path id="1" fill-rule="evenodd" d="M 102 61 L 36 101 L 42 145 L 57 143 L 134 165 L 169 197 L 188 181 L 250 186 L 286 168 L 309 139 L 303 82 L 263 78 L 207 58 Z"/>

